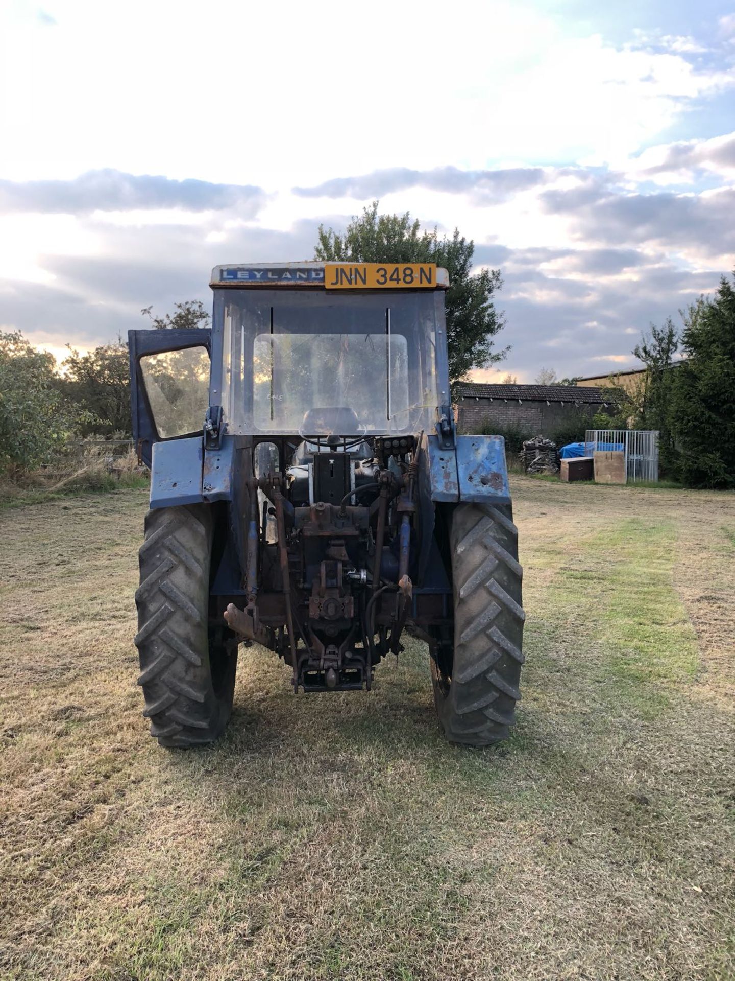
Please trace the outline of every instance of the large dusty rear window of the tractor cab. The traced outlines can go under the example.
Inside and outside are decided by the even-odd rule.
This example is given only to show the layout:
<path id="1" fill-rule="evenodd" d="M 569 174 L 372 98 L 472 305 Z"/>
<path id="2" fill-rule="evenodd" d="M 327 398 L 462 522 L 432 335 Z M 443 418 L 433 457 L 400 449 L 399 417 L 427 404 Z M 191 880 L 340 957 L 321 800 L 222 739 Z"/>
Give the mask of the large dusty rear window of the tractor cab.
<path id="1" fill-rule="evenodd" d="M 428 429 L 439 404 L 436 311 L 433 293 L 228 291 L 228 430 L 306 437 Z"/>

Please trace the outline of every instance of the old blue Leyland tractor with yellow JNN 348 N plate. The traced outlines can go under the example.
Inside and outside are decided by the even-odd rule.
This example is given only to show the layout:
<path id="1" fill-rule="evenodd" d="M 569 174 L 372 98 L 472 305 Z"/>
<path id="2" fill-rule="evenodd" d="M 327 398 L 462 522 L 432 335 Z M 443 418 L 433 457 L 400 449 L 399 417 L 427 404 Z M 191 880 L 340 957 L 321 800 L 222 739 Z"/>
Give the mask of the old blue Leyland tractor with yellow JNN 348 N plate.
<path id="1" fill-rule="evenodd" d="M 517 534 L 503 439 L 455 431 L 447 286 L 425 264 L 218 266 L 211 330 L 130 332 L 135 644 L 163 746 L 221 736 L 240 645 L 294 692 L 360 691 L 404 631 L 447 737 L 508 735 Z"/>

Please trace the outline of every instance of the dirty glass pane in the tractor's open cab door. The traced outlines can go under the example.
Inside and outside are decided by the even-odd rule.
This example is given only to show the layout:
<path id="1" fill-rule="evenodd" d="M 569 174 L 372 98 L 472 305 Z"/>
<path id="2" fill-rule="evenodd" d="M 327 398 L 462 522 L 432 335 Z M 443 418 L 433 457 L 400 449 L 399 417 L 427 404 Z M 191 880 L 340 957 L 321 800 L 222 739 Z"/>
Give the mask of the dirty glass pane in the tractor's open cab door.
<path id="1" fill-rule="evenodd" d="M 161 439 L 201 432 L 209 405 L 207 348 L 146 354 L 140 359 L 140 370 Z"/>

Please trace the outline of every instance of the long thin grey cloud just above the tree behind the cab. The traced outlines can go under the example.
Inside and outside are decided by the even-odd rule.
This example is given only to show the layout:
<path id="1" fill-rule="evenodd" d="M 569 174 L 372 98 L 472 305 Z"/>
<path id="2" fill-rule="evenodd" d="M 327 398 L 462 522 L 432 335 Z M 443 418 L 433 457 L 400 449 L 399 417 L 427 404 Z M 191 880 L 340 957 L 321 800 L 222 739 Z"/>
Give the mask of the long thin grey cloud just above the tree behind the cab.
<path id="1" fill-rule="evenodd" d="M 457 167 L 436 167 L 415 171 L 393 167 L 373 171 L 360 177 L 333 178 L 315 187 L 294 187 L 299 197 L 351 197 L 367 201 L 385 194 L 422 187 L 450 194 L 472 194 L 483 202 L 503 201 L 518 191 L 535 187 L 546 180 L 540 167 L 516 167 L 509 170 L 462 171 Z"/>

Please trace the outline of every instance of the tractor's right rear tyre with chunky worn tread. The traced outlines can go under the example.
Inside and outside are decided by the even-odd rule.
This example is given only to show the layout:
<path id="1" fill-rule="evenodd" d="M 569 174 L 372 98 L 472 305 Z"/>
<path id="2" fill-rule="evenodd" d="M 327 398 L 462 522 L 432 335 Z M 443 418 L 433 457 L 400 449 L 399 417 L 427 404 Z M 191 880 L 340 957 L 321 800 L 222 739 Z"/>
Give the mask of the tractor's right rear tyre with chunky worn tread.
<path id="1" fill-rule="evenodd" d="M 460 504 L 450 520 L 454 649 L 431 659 L 436 711 L 453 743 L 507 739 L 523 663 L 522 569 L 510 507 Z"/>

